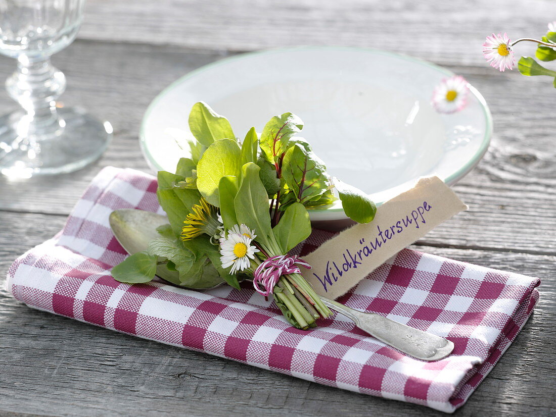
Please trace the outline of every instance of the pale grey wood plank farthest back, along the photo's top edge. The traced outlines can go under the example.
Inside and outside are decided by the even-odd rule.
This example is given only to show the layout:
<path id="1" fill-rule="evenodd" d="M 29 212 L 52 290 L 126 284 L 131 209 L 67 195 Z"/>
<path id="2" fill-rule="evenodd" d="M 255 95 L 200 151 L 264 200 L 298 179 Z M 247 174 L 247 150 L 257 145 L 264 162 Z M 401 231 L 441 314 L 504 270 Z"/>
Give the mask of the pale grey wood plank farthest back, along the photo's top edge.
<path id="1" fill-rule="evenodd" d="M 554 12 L 550 0 L 93 0 L 79 36 L 226 51 L 332 44 L 484 64 L 488 34 L 542 36 Z"/>

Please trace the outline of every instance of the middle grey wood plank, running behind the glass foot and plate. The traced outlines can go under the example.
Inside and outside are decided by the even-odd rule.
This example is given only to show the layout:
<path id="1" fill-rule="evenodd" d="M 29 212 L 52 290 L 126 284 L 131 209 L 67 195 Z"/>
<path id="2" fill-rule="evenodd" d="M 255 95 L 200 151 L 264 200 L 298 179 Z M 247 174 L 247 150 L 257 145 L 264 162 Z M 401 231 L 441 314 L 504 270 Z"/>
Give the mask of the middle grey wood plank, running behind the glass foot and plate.
<path id="1" fill-rule="evenodd" d="M 142 114 L 167 84 L 193 68 L 221 58 L 215 52 L 177 47 L 78 41 L 54 63 L 68 76 L 63 102 L 83 104 L 115 127 L 102 159 L 78 173 L 29 182 L 0 178 L 0 209 L 68 214 L 101 167 L 148 170 L 137 135 Z M 14 61 L 0 59 L 0 77 Z M 556 254 L 556 152 L 553 145 L 553 91 L 542 77 L 500 74 L 490 68 L 451 67 L 486 97 L 495 133 L 478 167 L 455 185 L 470 210 L 426 237 L 431 245 L 497 248 Z M 0 91 L 0 108 L 13 107 Z M 538 233 L 538 230 L 544 230 Z"/>

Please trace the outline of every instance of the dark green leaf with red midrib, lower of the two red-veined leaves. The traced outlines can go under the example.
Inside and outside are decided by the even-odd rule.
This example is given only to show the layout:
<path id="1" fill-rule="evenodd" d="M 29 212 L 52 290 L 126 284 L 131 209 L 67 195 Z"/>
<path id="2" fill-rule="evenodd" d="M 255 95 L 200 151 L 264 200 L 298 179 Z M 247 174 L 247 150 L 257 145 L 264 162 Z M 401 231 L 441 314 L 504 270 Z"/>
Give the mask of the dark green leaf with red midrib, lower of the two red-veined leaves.
<path id="1" fill-rule="evenodd" d="M 300 203 L 324 194 L 330 184 L 324 162 L 299 144 L 287 150 L 282 161 L 282 178 Z"/>

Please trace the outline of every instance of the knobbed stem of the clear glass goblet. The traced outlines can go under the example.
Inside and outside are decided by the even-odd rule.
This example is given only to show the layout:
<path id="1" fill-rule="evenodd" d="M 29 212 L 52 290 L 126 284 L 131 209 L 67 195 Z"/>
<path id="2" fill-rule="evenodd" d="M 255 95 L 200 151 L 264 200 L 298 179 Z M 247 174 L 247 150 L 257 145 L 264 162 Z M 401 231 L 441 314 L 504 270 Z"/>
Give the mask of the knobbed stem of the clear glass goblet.
<path id="1" fill-rule="evenodd" d="M 25 56 L 19 57 L 17 71 L 7 79 L 6 89 L 26 112 L 17 126 L 19 137 L 38 142 L 63 130 L 56 99 L 66 89 L 66 77 L 52 66 L 49 58 L 30 61 Z"/>

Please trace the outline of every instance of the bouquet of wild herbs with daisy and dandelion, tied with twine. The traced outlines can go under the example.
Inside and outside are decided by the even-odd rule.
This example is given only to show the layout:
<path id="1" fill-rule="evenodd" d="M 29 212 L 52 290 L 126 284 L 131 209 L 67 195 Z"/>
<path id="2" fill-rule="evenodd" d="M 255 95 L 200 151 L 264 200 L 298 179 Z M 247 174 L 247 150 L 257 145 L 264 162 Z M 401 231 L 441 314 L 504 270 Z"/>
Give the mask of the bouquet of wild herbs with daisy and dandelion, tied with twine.
<path id="1" fill-rule="evenodd" d="M 299 329 L 331 315 L 300 274 L 310 265 L 288 252 L 309 237 L 307 210 L 339 196 L 347 216 L 373 220 L 376 207 L 361 190 L 330 177 L 309 143 L 296 135 L 302 121 L 291 113 L 266 123 L 260 138 L 251 128 L 239 143 L 229 121 L 208 105 L 193 105 L 189 126 L 195 141 L 176 173 L 158 172 L 157 196 L 170 224 L 145 252 L 112 269 L 126 283 L 155 275 L 186 288 L 226 282 L 240 289 L 252 279 L 257 292 L 274 296 L 287 320 Z"/>

